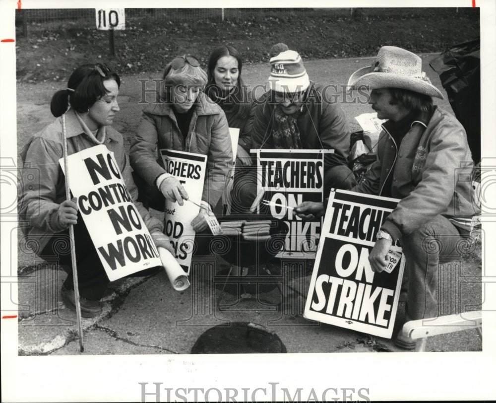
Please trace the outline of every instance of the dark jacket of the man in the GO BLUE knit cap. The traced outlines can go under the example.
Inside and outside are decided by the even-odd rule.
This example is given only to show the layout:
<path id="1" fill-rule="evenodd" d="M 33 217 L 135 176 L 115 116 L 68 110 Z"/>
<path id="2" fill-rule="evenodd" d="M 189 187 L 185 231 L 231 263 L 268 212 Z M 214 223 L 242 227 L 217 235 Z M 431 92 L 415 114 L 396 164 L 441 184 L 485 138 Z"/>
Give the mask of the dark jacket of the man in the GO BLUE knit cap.
<path id="1" fill-rule="evenodd" d="M 297 118 L 303 148 L 330 148 L 333 154 L 324 157 L 324 169 L 336 165 L 347 165 L 350 148 L 350 129 L 346 116 L 338 103 L 330 102 L 322 94 L 322 87 L 310 83 L 308 95 Z M 254 102 L 252 112 L 253 148 L 274 148 L 272 128 L 275 103 L 271 92 L 263 94 Z"/>

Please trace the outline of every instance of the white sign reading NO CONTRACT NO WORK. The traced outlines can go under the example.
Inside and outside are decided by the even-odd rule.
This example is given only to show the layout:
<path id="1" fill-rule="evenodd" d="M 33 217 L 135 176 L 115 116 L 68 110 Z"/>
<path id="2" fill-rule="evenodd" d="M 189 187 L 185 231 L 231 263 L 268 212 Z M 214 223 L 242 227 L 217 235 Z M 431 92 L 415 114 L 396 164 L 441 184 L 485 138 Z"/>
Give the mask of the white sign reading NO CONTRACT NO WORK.
<path id="1" fill-rule="evenodd" d="M 63 158 L 59 160 L 65 172 Z M 67 157 L 70 190 L 110 281 L 161 266 L 153 239 L 127 192 L 114 153 L 96 145 Z"/>

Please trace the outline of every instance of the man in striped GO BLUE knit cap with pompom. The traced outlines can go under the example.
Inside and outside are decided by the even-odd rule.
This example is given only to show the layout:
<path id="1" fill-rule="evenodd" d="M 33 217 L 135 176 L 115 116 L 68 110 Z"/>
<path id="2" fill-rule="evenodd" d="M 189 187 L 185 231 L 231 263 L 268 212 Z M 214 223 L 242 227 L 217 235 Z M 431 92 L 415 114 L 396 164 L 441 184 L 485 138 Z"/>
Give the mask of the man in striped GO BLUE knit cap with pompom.
<path id="1" fill-rule="evenodd" d="M 332 149 L 324 156 L 324 192 L 351 189 L 356 181 L 348 167 L 350 129 L 343 110 L 310 81 L 298 52 L 282 43 L 270 52 L 276 51 L 270 59 L 270 90 L 254 103 L 248 123 L 253 148 Z M 254 170 L 235 178 L 234 210 L 246 211 L 255 196 Z"/>

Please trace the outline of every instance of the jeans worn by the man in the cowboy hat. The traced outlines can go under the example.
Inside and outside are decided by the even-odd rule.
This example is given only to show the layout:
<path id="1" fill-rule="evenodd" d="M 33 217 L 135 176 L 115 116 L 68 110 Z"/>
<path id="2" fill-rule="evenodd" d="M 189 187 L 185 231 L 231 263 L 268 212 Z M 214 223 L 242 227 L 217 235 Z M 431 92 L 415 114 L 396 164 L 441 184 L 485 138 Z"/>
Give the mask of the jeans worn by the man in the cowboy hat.
<path id="1" fill-rule="evenodd" d="M 463 240 L 458 229 L 436 215 L 413 233 L 400 239 L 405 255 L 408 291 L 406 321 L 437 317 L 437 273 L 439 258 L 460 259 Z"/>

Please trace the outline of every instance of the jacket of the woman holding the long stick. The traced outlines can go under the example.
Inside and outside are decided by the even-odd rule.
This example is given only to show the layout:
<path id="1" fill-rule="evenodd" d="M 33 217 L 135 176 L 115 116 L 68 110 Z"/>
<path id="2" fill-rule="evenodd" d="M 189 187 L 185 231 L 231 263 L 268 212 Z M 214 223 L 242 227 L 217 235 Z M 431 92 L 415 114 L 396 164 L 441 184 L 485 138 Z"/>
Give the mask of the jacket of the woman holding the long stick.
<path id="1" fill-rule="evenodd" d="M 72 109 L 65 113 L 67 155 L 96 145 L 83 131 Z M 124 151 L 122 134 L 107 126 L 104 144 L 114 152 L 124 183 L 150 232 L 162 230 L 162 224 L 150 216 L 140 202 L 132 180 L 131 167 Z M 63 157 L 62 117 L 57 118 L 41 132 L 31 137 L 21 151 L 24 169 L 21 170 L 18 202 L 19 219 L 29 240 L 38 242 L 38 252 L 48 243 L 51 235 L 64 230 L 59 225 L 58 208 L 65 198 L 65 183 L 59 159 Z M 77 180 L 77 178 L 69 178 Z"/>

